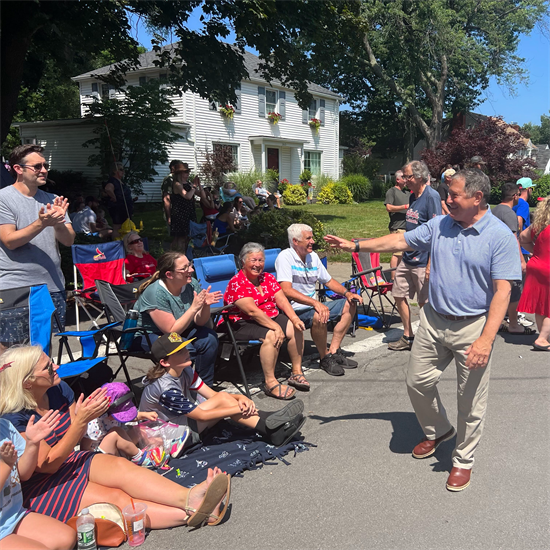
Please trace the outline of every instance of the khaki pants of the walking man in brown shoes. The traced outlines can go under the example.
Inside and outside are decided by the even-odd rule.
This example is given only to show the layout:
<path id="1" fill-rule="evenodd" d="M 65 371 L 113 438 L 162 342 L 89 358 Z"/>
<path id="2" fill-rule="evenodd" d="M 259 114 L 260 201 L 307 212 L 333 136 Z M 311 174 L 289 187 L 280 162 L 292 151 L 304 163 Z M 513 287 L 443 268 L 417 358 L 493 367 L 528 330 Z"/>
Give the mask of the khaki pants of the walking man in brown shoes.
<path id="1" fill-rule="evenodd" d="M 451 429 L 437 391 L 443 371 L 454 359 L 457 371 L 457 438 L 453 466 L 472 468 L 479 444 L 489 390 L 491 356 L 484 369 L 469 370 L 465 351 L 483 331 L 486 315 L 449 321 L 430 304 L 420 312 L 420 326 L 414 338 L 407 367 L 407 390 L 414 412 L 427 439 L 434 440 Z"/>

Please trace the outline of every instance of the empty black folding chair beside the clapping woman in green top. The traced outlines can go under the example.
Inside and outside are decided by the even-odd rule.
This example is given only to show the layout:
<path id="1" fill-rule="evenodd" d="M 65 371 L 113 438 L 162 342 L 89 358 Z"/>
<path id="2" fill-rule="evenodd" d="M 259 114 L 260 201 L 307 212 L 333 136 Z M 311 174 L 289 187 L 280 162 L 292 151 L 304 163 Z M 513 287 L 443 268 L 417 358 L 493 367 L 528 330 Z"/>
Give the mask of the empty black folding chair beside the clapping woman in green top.
<path id="1" fill-rule="evenodd" d="M 108 348 L 108 344 L 113 342 L 116 347 L 116 355 L 118 355 L 120 360 L 120 367 L 115 372 L 114 376 L 116 378 L 117 374 L 122 369 L 124 371 L 124 375 L 126 376 L 126 380 L 128 380 L 128 387 L 134 391 L 132 388 L 130 375 L 128 373 L 128 367 L 126 365 L 127 360 L 134 357 L 136 359 L 149 359 L 153 363 L 155 362 L 151 353 L 151 339 L 149 337 L 149 333 L 140 327 L 124 328 L 126 311 L 124 310 L 122 303 L 124 299 L 128 300 L 130 296 L 133 296 L 133 301 L 127 301 L 126 303 L 128 305 L 132 305 L 135 302 L 135 292 L 137 291 L 137 287 L 132 284 L 113 285 L 107 281 L 100 281 L 99 279 L 95 281 L 95 284 L 103 311 L 105 312 L 105 317 L 107 321 L 111 323 L 111 328 L 107 332 L 108 342 L 106 353 L 107 356 L 113 355 L 110 353 Z M 144 336 L 148 350 L 133 350 L 132 343 L 134 338 L 130 338 L 129 341 L 126 342 L 126 339 L 122 338 L 124 334 L 132 334 L 134 337 Z M 134 393 L 136 392 L 134 391 Z"/>

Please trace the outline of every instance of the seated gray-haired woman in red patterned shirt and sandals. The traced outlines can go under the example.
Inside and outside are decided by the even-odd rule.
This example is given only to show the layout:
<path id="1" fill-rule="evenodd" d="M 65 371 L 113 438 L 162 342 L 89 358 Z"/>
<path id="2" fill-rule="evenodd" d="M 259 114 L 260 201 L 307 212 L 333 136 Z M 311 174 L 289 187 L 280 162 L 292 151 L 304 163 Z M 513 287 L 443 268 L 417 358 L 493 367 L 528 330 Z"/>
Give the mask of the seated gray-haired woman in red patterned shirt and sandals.
<path id="1" fill-rule="evenodd" d="M 264 371 L 264 392 L 276 399 L 292 399 L 296 390 L 308 391 L 309 383 L 302 372 L 304 323 L 292 309 L 279 283 L 264 273 L 264 247 L 247 243 L 239 254 L 242 269 L 227 285 L 224 304 L 234 304 L 229 318 L 238 340 L 263 340 L 260 360 Z M 288 339 L 292 375 L 288 386 L 275 378 L 275 365 L 281 345 Z"/>

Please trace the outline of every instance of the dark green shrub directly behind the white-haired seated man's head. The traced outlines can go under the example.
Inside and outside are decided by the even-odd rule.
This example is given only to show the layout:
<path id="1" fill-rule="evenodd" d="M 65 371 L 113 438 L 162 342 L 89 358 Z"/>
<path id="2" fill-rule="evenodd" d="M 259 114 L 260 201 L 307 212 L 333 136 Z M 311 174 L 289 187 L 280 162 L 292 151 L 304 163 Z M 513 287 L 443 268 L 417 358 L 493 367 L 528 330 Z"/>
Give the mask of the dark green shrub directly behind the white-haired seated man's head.
<path id="1" fill-rule="evenodd" d="M 259 242 L 264 246 L 267 244 L 268 248 L 288 248 L 287 229 L 293 223 L 305 223 L 313 229 L 314 247 L 317 250 L 328 248 L 323 239 L 326 234 L 325 227 L 313 214 L 305 210 L 287 208 L 263 212 L 253 217 L 248 230 L 238 233 L 239 247 L 247 242 Z"/>

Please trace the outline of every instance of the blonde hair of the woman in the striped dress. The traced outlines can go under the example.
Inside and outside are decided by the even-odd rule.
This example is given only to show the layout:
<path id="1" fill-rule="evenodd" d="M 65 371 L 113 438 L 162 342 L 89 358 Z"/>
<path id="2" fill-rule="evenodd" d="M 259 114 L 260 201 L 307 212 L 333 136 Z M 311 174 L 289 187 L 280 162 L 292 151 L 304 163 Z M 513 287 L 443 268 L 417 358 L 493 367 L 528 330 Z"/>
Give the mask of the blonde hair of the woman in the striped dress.
<path id="1" fill-rule="evenodd" d="M 36 408 L 31 391 L 23 383 L 34 380 L 34 368 L 42 353 L 38 345 L 13 346 L 0 355 L 0 366 L 13 361 L 0 372 L 0 415 Z"/>

